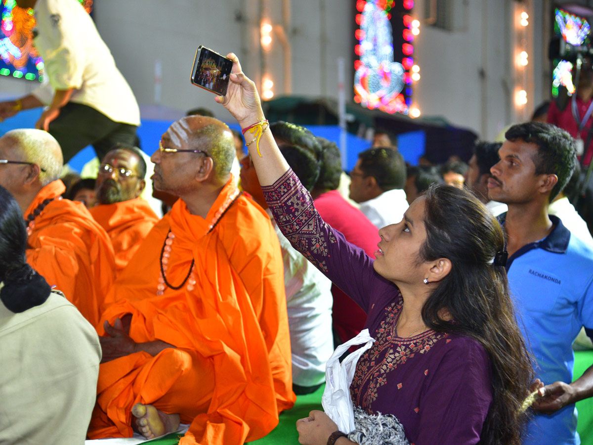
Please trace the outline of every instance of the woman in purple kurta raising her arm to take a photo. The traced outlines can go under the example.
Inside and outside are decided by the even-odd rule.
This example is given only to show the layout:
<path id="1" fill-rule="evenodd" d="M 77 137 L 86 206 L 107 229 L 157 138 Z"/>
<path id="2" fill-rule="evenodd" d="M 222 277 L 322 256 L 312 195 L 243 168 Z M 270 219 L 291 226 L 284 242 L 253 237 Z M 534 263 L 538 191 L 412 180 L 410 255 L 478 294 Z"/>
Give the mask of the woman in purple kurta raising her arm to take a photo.
<path id="1" fill-rule="evenodd" d="M 326 414 L 312 411 L 297 422 L 299 442 L 387 443 L 393 431 L 385 425 L 399 421 L 410 444 L 519 444 L 524 415 L 518 412 L 533 371 L 495 218 L 465 190 L 432 186 L 403 221 L 381 228 L 377 259 L 369 258 L 315 211 L 266 131 L 254 83 L 234 54 L 227 57 L 234 62 L 231 82 L 216 101 L 244 131 L 253 130 L 248 148 L 278 226 L 366 311 L 365 328 L 375 339 L 350 386 L 357 429 L 346 436 Z"/>

